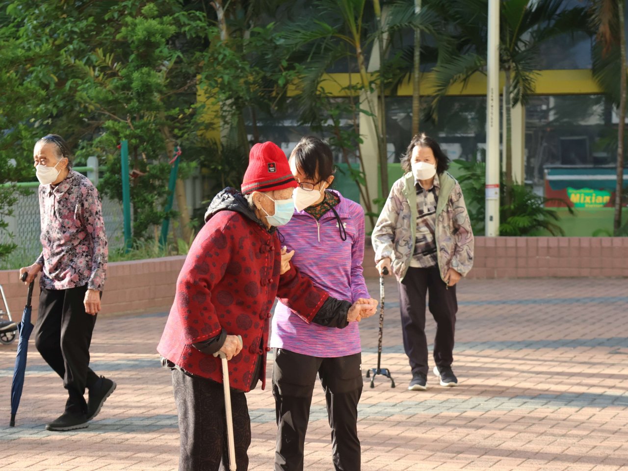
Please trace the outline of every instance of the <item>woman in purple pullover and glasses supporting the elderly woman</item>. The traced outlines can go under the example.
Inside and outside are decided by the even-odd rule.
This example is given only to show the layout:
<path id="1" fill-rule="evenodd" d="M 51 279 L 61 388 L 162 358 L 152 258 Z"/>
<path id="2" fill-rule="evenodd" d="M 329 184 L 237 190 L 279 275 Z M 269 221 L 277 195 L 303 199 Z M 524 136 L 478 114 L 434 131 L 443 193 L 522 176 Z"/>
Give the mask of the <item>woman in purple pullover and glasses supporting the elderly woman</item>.
<path id="1" fill-rule="evenodd" d="M 364 210 L 327 190 L 333 181 L 332 150 L 305 137 L 290 156 L 296 211 L 281 227 L 284 244 L 301 273 L 331 296 L 353 302 L 370 298 L 362 274 Z M 277 417 L 276 471 L 303 470 L 303 447 L 316 376 L 325 390 L 336 470 L 360 470 L 357 404 L 362 394 L 357 322 L 322 326 L 303 322 L 278 303 L 270 346 L 274 348 L 273 395 Z"/>

